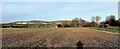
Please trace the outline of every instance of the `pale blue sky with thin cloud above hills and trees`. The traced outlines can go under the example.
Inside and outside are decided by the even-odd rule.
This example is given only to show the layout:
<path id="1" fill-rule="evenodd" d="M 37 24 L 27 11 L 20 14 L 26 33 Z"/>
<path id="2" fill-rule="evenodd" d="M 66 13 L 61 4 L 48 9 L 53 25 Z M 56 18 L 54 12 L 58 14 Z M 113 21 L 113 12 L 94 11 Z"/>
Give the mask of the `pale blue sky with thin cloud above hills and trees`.
<path id="1" fill-rule="evenodd" d="M 116 0 L 117 1 L 117 0 Z M 90 21 L 92 16 L 115 15 L 118 17 L 118 2 L 3 2 L 2 21 L 71 20 L 82 18 Z"/>

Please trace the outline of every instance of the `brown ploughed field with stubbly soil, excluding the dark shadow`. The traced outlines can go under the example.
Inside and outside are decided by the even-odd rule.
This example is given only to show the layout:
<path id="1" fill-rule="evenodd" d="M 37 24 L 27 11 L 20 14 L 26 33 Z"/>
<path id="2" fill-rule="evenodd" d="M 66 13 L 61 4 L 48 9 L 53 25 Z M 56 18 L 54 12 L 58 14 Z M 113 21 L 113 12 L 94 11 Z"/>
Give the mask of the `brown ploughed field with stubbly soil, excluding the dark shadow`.
<path id="1" fill-rule="evenodd" d="M 90 28 L 3 28 L 3 47 L 118 47 L 118 36 Z"/>

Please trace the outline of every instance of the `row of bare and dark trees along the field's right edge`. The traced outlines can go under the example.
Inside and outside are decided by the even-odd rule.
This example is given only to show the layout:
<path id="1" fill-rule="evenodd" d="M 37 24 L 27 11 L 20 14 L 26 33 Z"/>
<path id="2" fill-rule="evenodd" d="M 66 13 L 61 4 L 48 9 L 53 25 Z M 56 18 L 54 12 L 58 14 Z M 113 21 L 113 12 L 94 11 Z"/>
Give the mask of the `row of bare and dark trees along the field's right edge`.
<path id="1" fill-rule="evenodd" d="M 116 20 L 114 15 L 107 16 L 106 19 L 102 22 L 100 16 L 93 16 L 91 17 L 91 22 L 83 20 L 82 18 L 74 18 L 72 22 L 67 24 L 67 22 L 63 24 L 63 27 L 108 27 L 108 26 L 115 26 L 120 27 L 120 18 Z M 59 24 L 60 27 L 62 25 Z"/>

